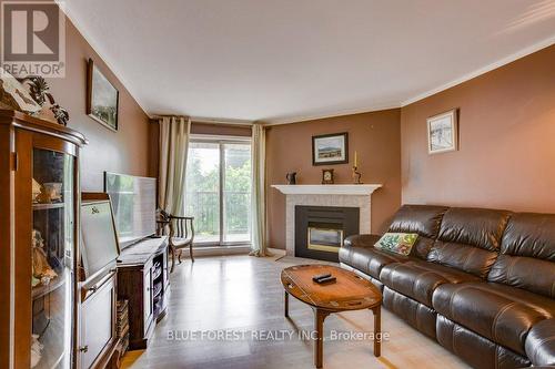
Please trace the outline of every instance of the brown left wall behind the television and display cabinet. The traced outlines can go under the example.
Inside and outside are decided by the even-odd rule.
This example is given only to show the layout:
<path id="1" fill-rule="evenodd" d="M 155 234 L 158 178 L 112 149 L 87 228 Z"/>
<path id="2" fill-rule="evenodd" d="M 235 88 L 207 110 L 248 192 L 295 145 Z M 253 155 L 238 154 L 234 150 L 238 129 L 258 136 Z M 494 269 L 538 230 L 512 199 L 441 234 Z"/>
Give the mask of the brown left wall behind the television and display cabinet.
<path id="1" fill-rule="evenodd" d="M 68 126 L 83 133 L 90 142 L 81 156 L 82 189 L 102 191 L 104 171 L 149 175 L 149 117 L 69 19 L 65 45 L 65 78 L 48 82 L 56 101 L 70 113 Z M 85 114 L 89 58 L 120 91 L 118 132 Z"/>

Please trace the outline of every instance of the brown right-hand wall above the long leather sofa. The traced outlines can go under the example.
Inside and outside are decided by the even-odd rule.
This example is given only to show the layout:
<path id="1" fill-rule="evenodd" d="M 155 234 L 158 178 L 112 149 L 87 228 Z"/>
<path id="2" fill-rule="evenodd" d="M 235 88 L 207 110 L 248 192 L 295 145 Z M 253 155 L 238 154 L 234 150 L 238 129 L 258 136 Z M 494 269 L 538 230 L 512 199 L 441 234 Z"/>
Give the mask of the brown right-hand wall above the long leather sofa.
<path id="1" fill-rule="evenodd" d="M 555 212 L 555 45 L 402 109 L 403 203 Z M 460 150 L 426 117 L 460 107 Z"/>

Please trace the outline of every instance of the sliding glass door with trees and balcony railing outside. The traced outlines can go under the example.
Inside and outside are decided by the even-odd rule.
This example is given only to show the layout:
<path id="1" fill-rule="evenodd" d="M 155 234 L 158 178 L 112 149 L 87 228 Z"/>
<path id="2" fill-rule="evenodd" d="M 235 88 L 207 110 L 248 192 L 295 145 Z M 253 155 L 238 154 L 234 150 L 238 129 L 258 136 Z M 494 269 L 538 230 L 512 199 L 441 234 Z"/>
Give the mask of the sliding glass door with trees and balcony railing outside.
<path id="1" fill-rule="evenodd" d="M 196 245 L 251 242 L 250 141 L 192 140 L 186 166 L 186 215 Z"/>

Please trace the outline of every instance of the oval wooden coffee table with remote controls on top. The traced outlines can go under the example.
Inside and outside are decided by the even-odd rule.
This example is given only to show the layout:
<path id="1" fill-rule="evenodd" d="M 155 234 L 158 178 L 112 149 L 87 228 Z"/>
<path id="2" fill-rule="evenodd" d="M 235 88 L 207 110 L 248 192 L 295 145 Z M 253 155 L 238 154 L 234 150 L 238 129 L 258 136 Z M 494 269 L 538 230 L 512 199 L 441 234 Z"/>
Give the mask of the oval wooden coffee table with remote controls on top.
<path id="1" fill-rule="evenodd" d="M 319 285 L 313 276 L 332 274 L 337 280 Z M 330 265 L 299 265 L 282 270 L 285 288 L 285 317 L 289 317 L 289 295 L 310 305 L 314 310 L 314 366 L 322 368 L 324 319 L 332 312 L 371 309 L 374 314 L 374 356 L 379 357 L 381 338 L 382 294 L 371 281 L 356 274 Z"/>

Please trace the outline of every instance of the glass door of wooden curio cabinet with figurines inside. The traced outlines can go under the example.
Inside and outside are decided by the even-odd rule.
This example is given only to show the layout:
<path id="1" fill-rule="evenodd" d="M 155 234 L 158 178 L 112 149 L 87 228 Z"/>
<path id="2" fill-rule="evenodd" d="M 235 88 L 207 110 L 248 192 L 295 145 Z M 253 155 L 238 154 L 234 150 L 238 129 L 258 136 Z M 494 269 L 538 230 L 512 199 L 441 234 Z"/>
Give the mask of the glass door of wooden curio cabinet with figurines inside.
<path id="1" fill-rule="evenodd" d="M 74 306 L 74 157 L 33 148 L 31 368 L 70 368 Z"/>

